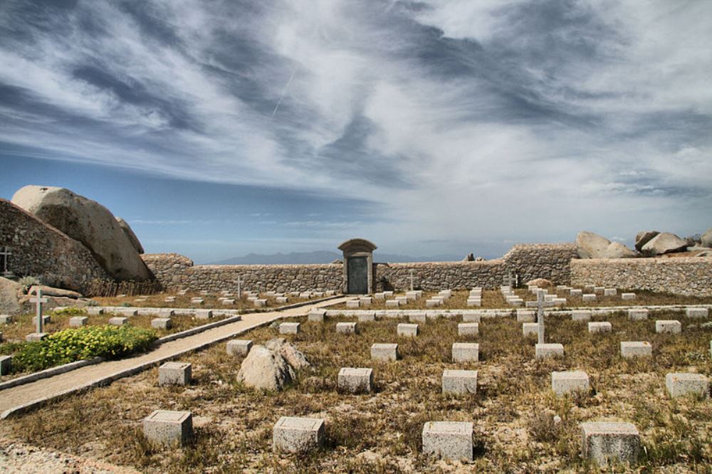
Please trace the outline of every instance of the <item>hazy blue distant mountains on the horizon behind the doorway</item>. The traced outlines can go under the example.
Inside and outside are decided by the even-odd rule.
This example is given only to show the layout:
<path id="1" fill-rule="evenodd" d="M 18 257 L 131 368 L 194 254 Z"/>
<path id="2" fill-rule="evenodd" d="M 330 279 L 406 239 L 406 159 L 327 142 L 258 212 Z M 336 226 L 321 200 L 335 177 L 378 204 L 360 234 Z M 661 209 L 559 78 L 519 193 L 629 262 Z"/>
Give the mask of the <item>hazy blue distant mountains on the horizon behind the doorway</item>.
<path id="1" fill-rule="evenodd" d="M 341 260 L 341 253 L 330 251 L 315 252 L 292 252 L 292 253 L 272 253 L 262 255 L 259 253 L 249 253 L 244 257 L 228 258 L 217 262 L 206 263 L 206 265 L 288 265 L 303 263 L 332 263 L 334 260 Z M 449 262 L 462 260 L 463 256 L 439 255 L 432 257 L 411 257 L 406 255 L 396 255 L 394 253 L 373 253 L 375 262 Z"/>

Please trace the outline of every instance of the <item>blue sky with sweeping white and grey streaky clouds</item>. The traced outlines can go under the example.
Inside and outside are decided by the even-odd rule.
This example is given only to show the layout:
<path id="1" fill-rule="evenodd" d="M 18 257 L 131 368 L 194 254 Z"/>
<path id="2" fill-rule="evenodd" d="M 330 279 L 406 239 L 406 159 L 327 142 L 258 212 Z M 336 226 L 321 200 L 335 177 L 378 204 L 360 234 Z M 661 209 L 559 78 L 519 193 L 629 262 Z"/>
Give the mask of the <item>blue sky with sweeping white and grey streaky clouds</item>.
<path id="1" fill-rule="evenodd" d="M 0 198 L 197 263 L 712 226 L 712 1 L 4 0 Z"/>

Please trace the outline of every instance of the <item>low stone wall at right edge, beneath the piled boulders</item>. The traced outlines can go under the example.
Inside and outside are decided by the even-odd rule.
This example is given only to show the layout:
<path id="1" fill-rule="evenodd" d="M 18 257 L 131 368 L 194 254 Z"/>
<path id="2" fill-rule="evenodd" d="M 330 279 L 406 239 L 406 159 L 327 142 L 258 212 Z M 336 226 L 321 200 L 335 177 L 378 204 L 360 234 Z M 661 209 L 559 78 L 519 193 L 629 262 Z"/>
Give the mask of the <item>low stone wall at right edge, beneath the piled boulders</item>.
<path id="1" fill-rule="evenodd" d="M 615 258 L 571 262 L 572 285 L 712 296 L 712 258 Z"/>

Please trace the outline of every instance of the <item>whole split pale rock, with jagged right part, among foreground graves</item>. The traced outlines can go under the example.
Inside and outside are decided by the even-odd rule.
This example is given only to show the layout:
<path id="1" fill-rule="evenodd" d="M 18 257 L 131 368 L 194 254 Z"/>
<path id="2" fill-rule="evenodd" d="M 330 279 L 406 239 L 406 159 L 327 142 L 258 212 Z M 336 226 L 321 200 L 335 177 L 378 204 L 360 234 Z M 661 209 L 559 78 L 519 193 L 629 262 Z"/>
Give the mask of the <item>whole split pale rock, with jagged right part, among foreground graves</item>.
<path id="1" fill-rule="evenodd" d="M 250 349 L 237 374 L 237 381 L 253 389 L 281 390 L 296 376 L 296 370 L 310 367 L 304 354 L 286 339 L 271 339 Z"/>

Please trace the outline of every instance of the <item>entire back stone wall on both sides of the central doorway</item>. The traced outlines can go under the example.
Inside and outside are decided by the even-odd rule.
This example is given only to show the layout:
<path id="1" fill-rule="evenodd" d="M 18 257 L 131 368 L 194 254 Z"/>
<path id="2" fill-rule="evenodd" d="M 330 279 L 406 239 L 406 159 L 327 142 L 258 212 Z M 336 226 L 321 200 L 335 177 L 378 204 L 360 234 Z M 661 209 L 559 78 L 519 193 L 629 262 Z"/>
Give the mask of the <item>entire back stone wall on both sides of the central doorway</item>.
<path id="1" fill-rule="evenodd" d="M 423 290 L 462 289 L 481 286 L 497 288 L 508 270 L 520 273 L 522 282 L 548 278 L 555 283 L 569 283 L 572 244 L 518 245 L 504 258 L 481 262 L 375 263 L 377 291 L 410 288 L 410 270 L 414 284 Z M 165 288 L 192 291 L 236 290 L 238 276 L 244 290 L 342 291 L 342 265 L 193 265 L 177 253 L 143 256 L 148 268 Z"/>

